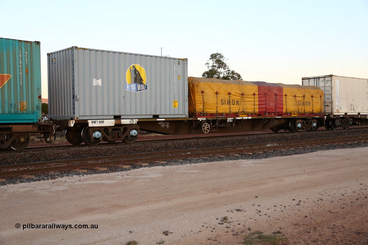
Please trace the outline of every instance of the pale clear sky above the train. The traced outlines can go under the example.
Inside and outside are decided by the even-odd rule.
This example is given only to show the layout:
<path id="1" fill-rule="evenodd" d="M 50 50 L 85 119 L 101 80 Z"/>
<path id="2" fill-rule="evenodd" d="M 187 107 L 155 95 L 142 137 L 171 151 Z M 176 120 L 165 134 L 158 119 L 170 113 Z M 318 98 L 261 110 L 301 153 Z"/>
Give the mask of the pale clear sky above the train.
<path id="1" fill-rule="evenodd" d="M 188 58 L 201 77 L 222 53 L 244 81 L 301 84 L 302 77 L 368 78 L 368 0 L 0 0 L 0 37 Z"/>

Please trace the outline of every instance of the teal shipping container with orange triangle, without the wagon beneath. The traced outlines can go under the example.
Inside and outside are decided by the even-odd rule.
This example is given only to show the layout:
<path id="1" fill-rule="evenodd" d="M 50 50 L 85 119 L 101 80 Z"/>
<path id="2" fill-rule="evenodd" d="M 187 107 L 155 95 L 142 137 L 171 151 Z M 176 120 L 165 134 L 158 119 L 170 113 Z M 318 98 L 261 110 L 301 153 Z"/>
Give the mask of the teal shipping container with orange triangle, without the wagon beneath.
<path id="1" fill-rule="evenodd" d="M 40 42 L 0 38 L 0 123 L 40 120 Z"/>

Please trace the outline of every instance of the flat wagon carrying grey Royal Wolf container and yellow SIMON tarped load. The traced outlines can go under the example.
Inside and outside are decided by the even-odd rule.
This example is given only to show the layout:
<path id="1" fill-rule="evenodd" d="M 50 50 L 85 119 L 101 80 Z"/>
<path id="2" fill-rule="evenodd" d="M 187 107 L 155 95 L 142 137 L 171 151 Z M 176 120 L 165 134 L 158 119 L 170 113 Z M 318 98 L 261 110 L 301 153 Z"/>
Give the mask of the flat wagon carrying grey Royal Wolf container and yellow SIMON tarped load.
<path id="1" fill-rule="evenodd" d="M 187 59 L 70 47 L 47 54 L 49 117 L 78 145 L 162 134 L 296 132 L 323 124 L 315 86 L 187 75 Z"/>

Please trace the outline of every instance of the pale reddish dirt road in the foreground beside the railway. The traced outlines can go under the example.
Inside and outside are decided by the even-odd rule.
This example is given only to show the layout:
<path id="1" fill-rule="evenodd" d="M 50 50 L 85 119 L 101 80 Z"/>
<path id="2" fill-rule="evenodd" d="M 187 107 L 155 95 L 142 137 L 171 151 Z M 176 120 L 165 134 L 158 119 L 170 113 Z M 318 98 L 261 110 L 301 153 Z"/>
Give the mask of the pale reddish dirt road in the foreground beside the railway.
<path id="1" fill-rule="evenodd" d="M 367 151 L 3 186 L 0 244 L 238 244 L 255 231 L 284 244 L 367 244 Z"/>

